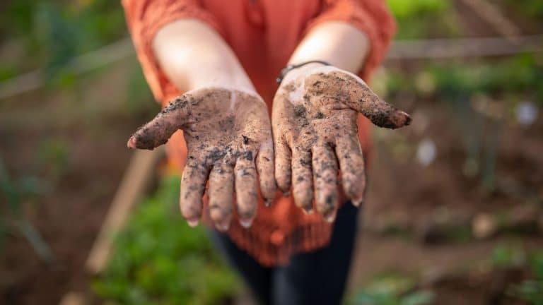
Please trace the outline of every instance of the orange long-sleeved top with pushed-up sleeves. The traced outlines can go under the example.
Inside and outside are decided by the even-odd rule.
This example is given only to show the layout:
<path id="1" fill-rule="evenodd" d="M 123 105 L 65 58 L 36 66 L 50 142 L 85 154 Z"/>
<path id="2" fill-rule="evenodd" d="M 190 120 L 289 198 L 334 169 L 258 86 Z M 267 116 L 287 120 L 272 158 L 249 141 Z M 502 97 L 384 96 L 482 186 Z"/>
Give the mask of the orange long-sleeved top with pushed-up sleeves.
<path id="1" fill-rule="evenodd" d="M 343 20 L 366 33 L 370 52 L 360 75 L 368 77 L 385 56 L 395 23 L 383 0 L 122 0 L 129 30 L 146 80 L 156 100 L 166 104 L 182 94 L 166 78 L 151 44 L 164 25 L 198 18 L 215 28 L 238 56 L 259 94 L 271 109 L 278 76 L 306 32 L 318 23 Z M 271 113 L 271 111 L 270 111 Z M 358 119 L 364 152 L 369 148 L 369 124 Z M 181 172 L 187 157 L 182 131 L 167 145 L 170 162 Z M 206 203 L 204 203 L 206 204 Z M 316 213 L 305 215 L 292 198 L 276 196 L 270 208 L 259 202 L 252 227 L 234 217 L 228 234 L 262 265 L 286 263 L 292 253 L 325 246 L 332 225 Z"/>

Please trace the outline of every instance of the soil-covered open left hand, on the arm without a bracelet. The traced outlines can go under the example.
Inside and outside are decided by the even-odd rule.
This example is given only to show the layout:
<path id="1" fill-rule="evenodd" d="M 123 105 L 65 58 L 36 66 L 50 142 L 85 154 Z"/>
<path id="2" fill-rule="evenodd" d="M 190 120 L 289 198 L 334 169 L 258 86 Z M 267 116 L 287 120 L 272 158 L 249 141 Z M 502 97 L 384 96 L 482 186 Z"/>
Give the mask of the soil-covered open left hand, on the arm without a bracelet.
<path id="1" fill-rule="evenodd" d="M 184 131 L 188 150 L 180 191 L 183 217 L 197 225 L 209 180 L 209 215 L 216 228 L 225 231 L 230 226 L 234 190 L 240 223 L 250 227 L 257 210 L 257 171 L 268 203 L 276 189 L 271 128 L 262 98 L 225 88 L 189 91 L 139 128 L 127 145 L 152 150 L 177 129 Z"/>

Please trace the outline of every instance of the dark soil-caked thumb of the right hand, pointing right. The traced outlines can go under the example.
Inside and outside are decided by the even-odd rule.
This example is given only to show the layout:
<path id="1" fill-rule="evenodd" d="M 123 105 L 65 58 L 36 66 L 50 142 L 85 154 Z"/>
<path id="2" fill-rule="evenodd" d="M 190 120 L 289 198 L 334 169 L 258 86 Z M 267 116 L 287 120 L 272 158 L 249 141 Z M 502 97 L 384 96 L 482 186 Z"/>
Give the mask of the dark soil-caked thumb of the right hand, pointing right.
<path id="1" fill-rule="evenodd" d="M 381 100 L 366 84 L 351 87 L 350 95 L 349 107 L 379 127 L 394 129 L 411 124 L 409 114 Z"/>

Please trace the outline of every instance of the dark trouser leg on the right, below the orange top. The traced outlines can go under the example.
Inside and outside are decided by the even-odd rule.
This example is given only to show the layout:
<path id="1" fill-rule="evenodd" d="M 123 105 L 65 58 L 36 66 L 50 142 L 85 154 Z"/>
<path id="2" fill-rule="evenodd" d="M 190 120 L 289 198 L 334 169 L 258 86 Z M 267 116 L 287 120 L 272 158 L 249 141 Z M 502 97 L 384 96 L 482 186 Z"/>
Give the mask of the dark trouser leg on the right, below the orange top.
<path id="1" fill-rule="evenodd" d="M 276 268 L 273 303 L 281 305 L 341 304 L 356 237 L 358 208 L 351 203 L 339 209 L 332 239 L 325 248 L 300 253 Z"/>

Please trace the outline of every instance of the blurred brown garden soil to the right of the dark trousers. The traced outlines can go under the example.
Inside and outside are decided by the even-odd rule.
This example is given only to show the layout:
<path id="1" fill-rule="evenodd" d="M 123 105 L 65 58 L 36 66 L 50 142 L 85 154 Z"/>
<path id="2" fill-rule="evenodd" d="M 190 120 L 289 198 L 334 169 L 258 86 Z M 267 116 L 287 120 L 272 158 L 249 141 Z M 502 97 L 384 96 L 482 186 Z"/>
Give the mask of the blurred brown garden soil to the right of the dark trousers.
<path id="1" fill-rule="evenodd" d="M 536 152 L 543 151 L 543 138 L 539 136 L 543 132 L 543 120 L 539 119 L 529 129 L 503 128 L 503 138 L 496 152 L 499 182 L 496 190 L 490 192 L 481 186 L 479 179 L 462 174 L 465 153 L 460 133 L 451 128 L 455 124 L 450 115 L 431 104 L 417 104 L 417 112 L 431 118 L 420 136 L 415 131 L 420 128 L 418 114 L 414 114 L 413 129 L 394 131 L 401 133 L 400 136 L 375 133 L 361 237 L 351 270 L 351 289 L 356 291 L 375 275 L 394 270 L 422 282 L 435 277 L 424 288 L 436 293 L 436 304 L 522 304 L 508 298 L 506 288 L 525 279 L 526 270 L 486 268 L 481 271 L 481 265 L 489 261 L 496 246 L 514 246 L 524 251 L 541 249 L 543 229 L 465 241 L 428 242 L 419 234 L 421 228 L 431 225 L 439 215 L 449 215 L 452 222 L 458 222 L 457 227 L 467 226 L 470 230 L 471 221 L 479 213 L 512 213 L 534 200 L 534 193 L 541 203 L 543 155 Z M 403 141 L 416 145 L 421 136 L 433 139 L 437 145 L 437 157 L 431 165 L 414 162 L 415 148 L 412 147 L 402 148 L 401 152 L 406 155 L 395 154 L 398 149 L 395 146 L 404 145 Z M 523 191 L 510 193 L 508 189 Z M 542 213 L 539 205 L 539 215 Z M 387 226 L 395 232 L 385 232 L 383 228 Z"/>

